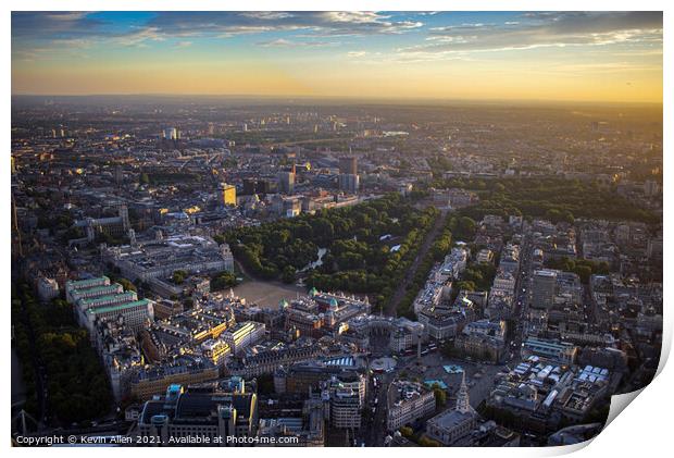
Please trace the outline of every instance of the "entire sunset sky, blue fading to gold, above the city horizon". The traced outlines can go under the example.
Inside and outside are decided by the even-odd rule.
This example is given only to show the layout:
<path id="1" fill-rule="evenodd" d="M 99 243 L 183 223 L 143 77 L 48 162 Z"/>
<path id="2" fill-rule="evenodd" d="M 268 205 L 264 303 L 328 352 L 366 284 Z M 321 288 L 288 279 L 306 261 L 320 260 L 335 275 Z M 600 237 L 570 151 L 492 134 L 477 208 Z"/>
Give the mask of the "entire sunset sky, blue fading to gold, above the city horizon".
<path id="1" fill-rule="evenodd" d="M 13 12 L 13 95 L 662 103 L 661 12 Z"/>

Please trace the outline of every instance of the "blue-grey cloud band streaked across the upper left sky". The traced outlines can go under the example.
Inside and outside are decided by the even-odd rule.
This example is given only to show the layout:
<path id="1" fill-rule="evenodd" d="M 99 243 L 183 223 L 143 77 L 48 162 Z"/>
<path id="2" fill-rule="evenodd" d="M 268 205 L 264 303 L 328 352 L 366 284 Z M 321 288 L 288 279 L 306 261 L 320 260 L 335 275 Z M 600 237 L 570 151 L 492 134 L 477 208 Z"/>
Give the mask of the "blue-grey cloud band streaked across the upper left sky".
<path id="1" fill-rule="evenodd" d="M 397 21 L 376 12 L 157 12 L 142 23 L 129 25 L 122 20 L 103 21 L 87 12 L 14 12 L 12 39 L 16 47 L 51 47 L 54 40 L 76 44 L 114 44 L 124 47 L 147 47 L 170 38 L 219 37 L 297 32 L 303 41 L 262 40 L 265 47 L 325 47 L 338 45 L 317 38 L 402 34 L 421 27 L 421 22 Z M 123 17 L 123 16 L 120 16 Z M 126 28 L 120 27 L 126 25 Z M 187 42 L 187 41 L 185 41 Z M 66 45 L 67 46 L 67 45 Z M 185 45 L 187 46 L 187 45 Z"/>

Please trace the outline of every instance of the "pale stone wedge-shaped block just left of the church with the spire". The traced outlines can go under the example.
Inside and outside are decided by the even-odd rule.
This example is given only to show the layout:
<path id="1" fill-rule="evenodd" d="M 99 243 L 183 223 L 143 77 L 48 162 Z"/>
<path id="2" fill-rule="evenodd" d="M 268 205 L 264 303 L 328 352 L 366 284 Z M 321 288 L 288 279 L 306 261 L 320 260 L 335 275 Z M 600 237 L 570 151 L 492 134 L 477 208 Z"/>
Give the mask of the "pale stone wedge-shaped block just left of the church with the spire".
<path id="1" fill-rule="evenodd" d="M 389 432 L 435 411 L 435 393 L 420 383 L 397 381 L 388 386 L 386 426 Z"/>

